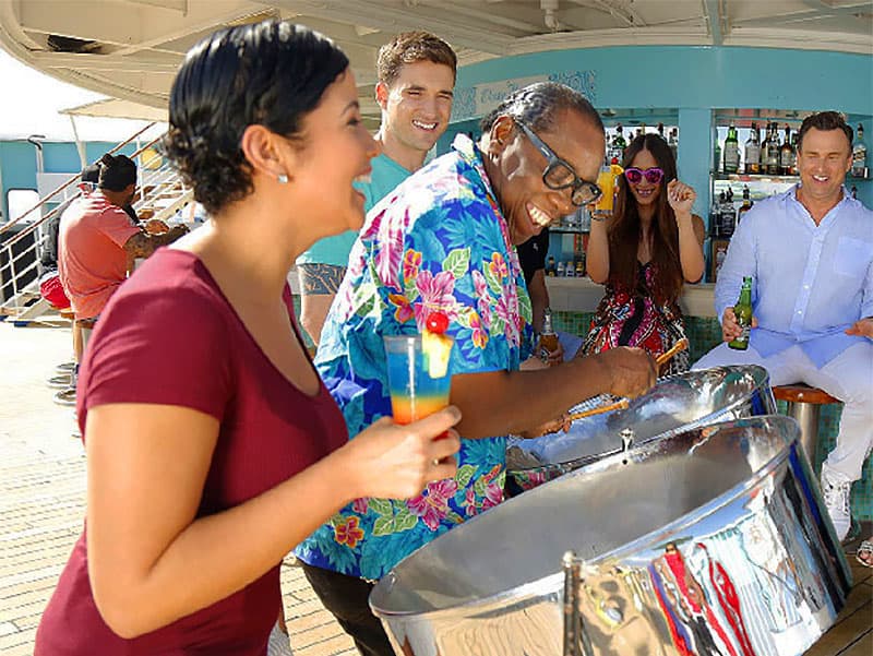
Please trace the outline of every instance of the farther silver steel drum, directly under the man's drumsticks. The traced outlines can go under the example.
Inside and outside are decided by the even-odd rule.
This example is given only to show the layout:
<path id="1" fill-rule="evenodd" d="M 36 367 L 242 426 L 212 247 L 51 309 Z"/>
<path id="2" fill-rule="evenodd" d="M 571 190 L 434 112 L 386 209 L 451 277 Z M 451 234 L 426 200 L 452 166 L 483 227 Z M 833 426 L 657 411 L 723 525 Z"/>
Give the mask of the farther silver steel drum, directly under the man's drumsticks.
<path id="1" fill-rule="evenodd" d="M 775 413 L 769 375 L 763 367 L 714 367 L 665 378 L 626 409 L 579 419 L 566 433 L 535 440 L 510 438 L 506 491 L 515 496 L 622 451 L 622 432 L 641 443 L 716 421 Z"/>

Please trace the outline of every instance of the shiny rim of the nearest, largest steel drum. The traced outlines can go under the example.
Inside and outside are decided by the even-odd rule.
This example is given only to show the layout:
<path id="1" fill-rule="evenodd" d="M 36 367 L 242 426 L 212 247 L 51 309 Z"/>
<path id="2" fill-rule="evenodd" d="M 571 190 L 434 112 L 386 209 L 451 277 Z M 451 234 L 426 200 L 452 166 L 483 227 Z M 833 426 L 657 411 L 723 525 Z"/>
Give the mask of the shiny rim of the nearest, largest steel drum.
<path id="1" fill-rule="evenodd" d="M 694 510 L 685 513 L 684 515 L 680 515 L 679 517 L 677 517 L 672 522 L 669 522 L 668 524 L 666 524 L 665 526 L 662 526 L 660 528 L 657 528 L 655 530 L 650 530 L 648 533 L 645 533 L 645 534 L 641 535 L 638 538 L 635 538 L 635 539 L 631 540 L 630 542 L 625 542 L 625 544 L 621 545 L 620 547 L 615 547 L 614 549 L 611 549 L 609 551 L 605 551 L 603 553 L 600 553 L 597 557 L 590 559 L 590 560 L 583 559 L 585 561 L 585 564 L 586 565 L 599 565 L 603 561 L 607 561 L 607 560 L 620 561 L 623 558 L 626 558 L 626 556 L 629 553 L 635 553 L 635 552 L 641 552 L 641 551 L 648 550 L 648 548 L 650 548 L 650 547 L 648 547 L 649 545 L 657 545 L 657 544 L 663 542 L 665 540 L 668 540 L 669 536 L 678 535 L 682 530 L 682 528 L 687 527 L 687 526 L 693 525 L 693 524 L 696 524 L 703 517 L 706 517 L 707 515 L 713 514 L 718 509 L 720 509 L 720 508 L 722 508 L 725 505 L 728 505 L 729 503 L 732 503 L 733 501 L 736 501 L 739 497 L 742 497 L 749 490 L 757 487 L 757 485 L 762 480 L 766 479 L 772 474 L 777 472 L 779 469 L 779 467 L 782 466 L 784 463 L 787 463 L 789 457 L 790 457 L 790 455 L 791 455 L 791 453 L 794 452 L 796 450 L 798 450 L 798 448 L 800 445 L 800 440 L 799 440 L 800 428 L 798 427 L 797 421 L 794 421 L 791 417 L 786 417 L 784 415 L 760 415 L 760 416 L 756 416 L 756 417 L 752 417 L 750 419 L 756 419 L 756 420 L 768 419 L 768 420 L 773 420 L 774 418 L 778 419 L 777 422 L 793 425 L 794 430 L 789 436 L 786 437 L 785 448 L 781 449 L 779 451 L 779 453 L 774 455 L 766 463 L 764 463 L 764 465 L 762 465 L 758 469 L 756 469 L 750 478 L 748 478 L 746 480 L 743 480 L 742 482 L 738 482 L 737 485 L 728 488 L 727 490 L 725 490 L 722 493 L 720 493 L 715 499 L 711 499 L 710 501 L 708 501 L 708 502 L 695 508 Z M 733 421 L 736 421 L 736 420 L 722 421 L 722 422 L 713 425 L 713 427 L 718 427 L 718 426 L 720 426 L 722 424 L 725 424 L 725 425 L 733 424 Z M 691 430 L 697 430 L 697 429 L 691 429 Z M 683 431 L 683 432 L 686 432 L 686 431 Z M 645 445 L 646 444 L 641 444 L 641 448 L 645 446 Z M 598 462 L 600 462 L 600 461 L 598 461 Z M 565 476 L 566 477 L 582 476 L 584 474 L 586 474 L 585 469 L 576 469 L 574 472 L 570 472 Z M 564 477 L 561 477 L 561 478 L 564 478 Z M 538 487 L 543 487 L 543 486 L 553 484 L 558 479 L 546 481 L 545 484 L 542 484 L 542 486 L 538 486 Z M 481 514 L 478 514 L 478 515 L 476 515 L 474 517 L 470 517 L 465 523 L 469 524 L 469 522 L 475 522 L 478 517 L 481 517 L 485 514 L 486 513 L 481 513 Z M 423 546 L 419 547 L 418 549 L 416 549 L 416 551 L 410 553 L 407 558 L 411 558 L 419 550 L 427 548 L 427 546 L 428 545 L 423 545 Z M 403 562 L 403 561 L 400 561 L 400 562 Z M 471 618 L 471 617 L 475 617 L 475 615 L 480 615 L 481 613 L 481 610 L 479 608 L 476 608 L 477 606 L 486 606 L 487 605 L 489 607 L 492 607 L 495 603 L 501 601 L 504 598 L 511 598 L 511 599 L 514 599 L 514 600 L 518 600 L 519 599 L 519 597 L 518 597 L 518 591 L 519 589 L 522 591 L 522 594 L 524 595 L 524 596 L 521 597 L 521 599 L 528 598 L 528 597 L 533 596 L 535 593 L 537 593 L 537 589 L 540 588 L 540 586 L 542 588 L 542 592 L 538 593 L 540 596 L 543 596 L 543 595 L 547 595 L 547 594 L 550 594 L 550 593 L 554 592 L 552 589 L 552 587 L 554 585 L 554 583 L 553 583 L 554 581 L 559 582 L 559 584 L 560 584 L 559 589 L 562 589 L 563 588 L 563 576 L 564 575 L 563 575 L 563 572 L 561 572 L 561 570 L 560 570 L 560 563 L 555 563 L 555 568 L 558 568 L 555 573 L 547 574 L 546 576 L 537 579 L 536 581 L 530 581 L 528 583 L 523 583 L 522 585 L 517 585 L 515 587 L 512 587 L 512 588 L 509 588 L 509 589 L 505 589 L 505 591 L 500 591 L 498 593 L 494 593 L 493 595 L 488 595 L 487 597 L 481 597 L 479 599 L 471 599 L 469 601 L 464 601 L 462 604 L 457 604 L 455 606 L 450 606 L 450 607 L 446 607 L 446 608 L 438 608 L 438 609 L 434 609 L 434 610 L 428 610 L 428 611 L 423 611 L 422 612 L 422 611 L 412 611 L 412 610 L 404 610 L 404 611 L 399 611 L 399 610 L 383 610 L 383 609 L 374 606 L 372 604 L 372 601 L 370 601 L 369 605 L 370 605 L 370 609 L 373 611 L 373 615 L 375 615 L 376 617 L 380 617 L 380 618 L 385 618 L 385 619 L 399 618 L 399 619 L 403 619 L 404 621 L 412 620 L 412 621 L 419 622 L 419 621 L 424 621 L 424 620 L 430 621 L 431 619 L 440 619 L 442 616 L 459 616 L 459 617 L 463 617 L 463 618 Z M 385 577 L 386 576 L 394 576 L 394 571 L 392 570 L 391 572 L 388 572 L 388 574 L 386 574 Z M 384 582 L 385 577 L 381 579 L 376 583 L 376 586 L 381 585 L 382 582 Z M 369 599 L 372 599 L 372 592 L 370 593 Z M 465 609 L 473 609 L 473 608 L 476 608 L 476 613 L 464 612 Z"/>

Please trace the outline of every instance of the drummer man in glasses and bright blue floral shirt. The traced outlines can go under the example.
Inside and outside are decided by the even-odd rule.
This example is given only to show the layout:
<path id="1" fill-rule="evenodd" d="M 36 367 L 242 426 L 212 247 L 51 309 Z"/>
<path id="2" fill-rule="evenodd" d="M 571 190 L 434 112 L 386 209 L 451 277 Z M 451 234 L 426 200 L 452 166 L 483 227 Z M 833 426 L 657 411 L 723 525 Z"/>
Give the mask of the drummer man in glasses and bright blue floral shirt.
<path id="1" fill-rule="evenodd" d="M 515 244 L 597 199 L 588 180 L 603 157 L 603 126 L 576 92 L 538 83 L 507 97 L 482 131 L 480 145 L 458 135 L 369 213 L 322 332 L 316 366 L 349 434 L 391 415 L 384 335 L 418 333 L 440 311 L 455 339 L 457 475 L 414 499 L 358 499 L 297 549 L 366 655 L 393 652 L 362 580 L 502 501 L 507 433 L 536 433 L 583 398 L 636 395 L 655 381 L 651 359 L 627 348 L 519 371 L 531 310 Z M 546 142 L 561 144 L 560 156 Z"/>

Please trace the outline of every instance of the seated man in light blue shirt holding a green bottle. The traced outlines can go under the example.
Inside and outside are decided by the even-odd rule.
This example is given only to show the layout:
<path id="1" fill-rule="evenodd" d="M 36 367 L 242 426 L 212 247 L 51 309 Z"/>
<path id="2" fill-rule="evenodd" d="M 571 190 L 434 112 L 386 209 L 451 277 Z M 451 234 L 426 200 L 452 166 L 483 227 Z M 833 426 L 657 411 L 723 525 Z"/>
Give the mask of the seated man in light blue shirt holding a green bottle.
<path id="1" fill-rule="evenodd" d="M 740 334 L 733 303 L 752 276 L 749 349 L 721 344 L 695 369 L 764 366 L 775 385 L 804 382 L 844 402 L 822 491 L 840 539 L 849 494 L 873 445 L 873 212 L 842 186 L 852 129 L 835 111 L 808 117 L 798 135 L 800 184 L 757 203 L 730 241 L 716 284 L 725 342 Z"/>

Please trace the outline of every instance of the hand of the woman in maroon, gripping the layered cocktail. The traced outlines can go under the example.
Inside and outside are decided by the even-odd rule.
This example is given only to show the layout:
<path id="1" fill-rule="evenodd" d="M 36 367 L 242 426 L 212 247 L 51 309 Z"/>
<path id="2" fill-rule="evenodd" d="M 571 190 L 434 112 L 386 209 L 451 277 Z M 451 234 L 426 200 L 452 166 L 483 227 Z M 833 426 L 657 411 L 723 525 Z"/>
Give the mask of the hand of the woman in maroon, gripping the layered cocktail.
<path id="1" fill-rule="evenodd" d="M 449 406 L 406 426 L 383 417 L 362 430 L 343 446 L 354 463 L 354 498 L 408 499 L 429 482 L 452 478 L 457 472 L 454 454 L 461 449 L 452 427 L 459 420 L 461 410 Z"/>

